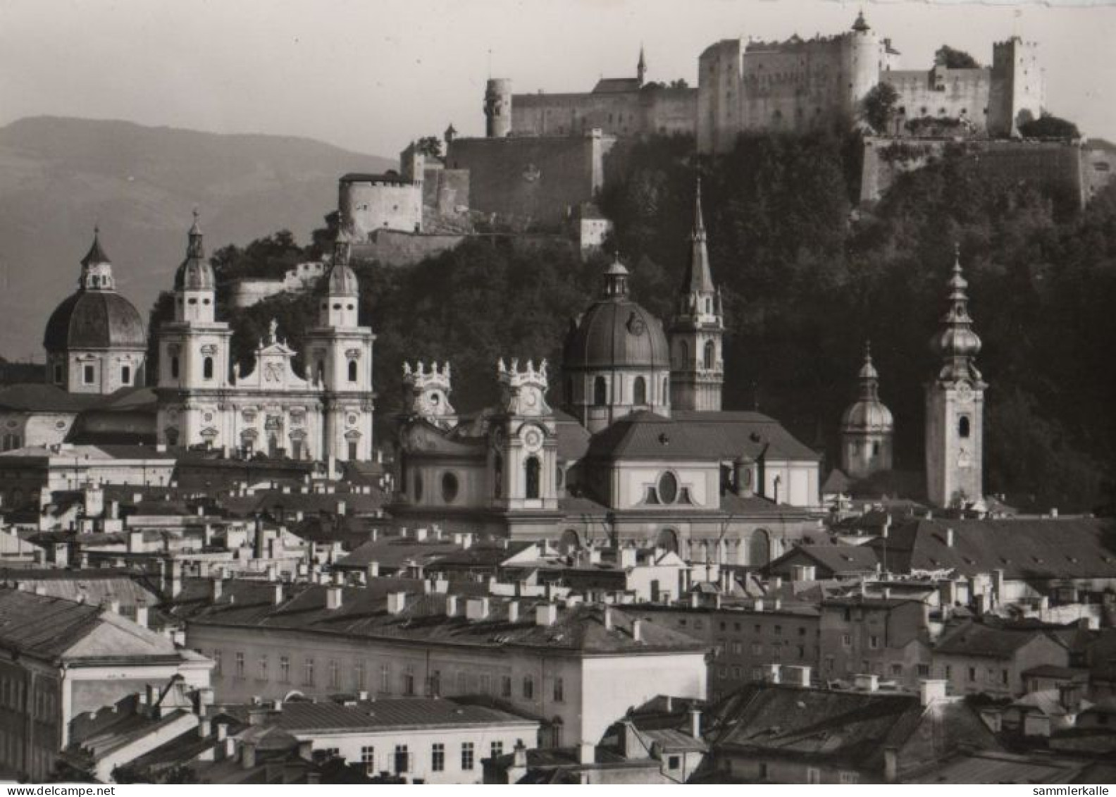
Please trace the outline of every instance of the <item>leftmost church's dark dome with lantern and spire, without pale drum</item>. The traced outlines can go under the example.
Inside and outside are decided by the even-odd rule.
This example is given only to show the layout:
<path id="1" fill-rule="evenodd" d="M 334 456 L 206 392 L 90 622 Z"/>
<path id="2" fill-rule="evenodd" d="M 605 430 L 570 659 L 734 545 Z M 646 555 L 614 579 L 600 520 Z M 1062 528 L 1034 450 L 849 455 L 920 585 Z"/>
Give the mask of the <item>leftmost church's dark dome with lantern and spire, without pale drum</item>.
<path id="1" fill-rule="evenodd" d="M 146 348 L 140 311 L 113 287 L 112 261 L 94 234 L 81 259 L 76 292 L 62 300 L 47 320 L 42 346 L 48 352 L 69 349 Z"/>

